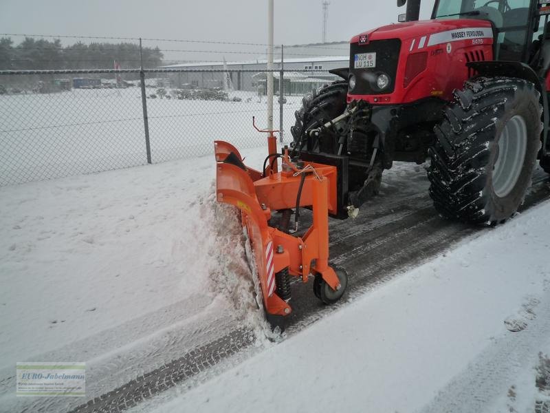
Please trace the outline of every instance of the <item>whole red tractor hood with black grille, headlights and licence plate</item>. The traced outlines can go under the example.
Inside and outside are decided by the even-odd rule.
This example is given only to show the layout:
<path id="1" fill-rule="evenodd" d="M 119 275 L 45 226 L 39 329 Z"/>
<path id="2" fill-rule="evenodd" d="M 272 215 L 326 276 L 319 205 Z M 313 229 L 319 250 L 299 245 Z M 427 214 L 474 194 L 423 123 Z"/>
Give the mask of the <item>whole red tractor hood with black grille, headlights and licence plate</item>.
<path id="1" fill-rule="evenodd" d="M 492 60 L 493 42 L 492 23 L 481 19 L 412 21 L 354 36 L 349 71 L 355 85 L 348 101 L 450 100 L 452 90 L 472 76 L 467 63 Z"/>

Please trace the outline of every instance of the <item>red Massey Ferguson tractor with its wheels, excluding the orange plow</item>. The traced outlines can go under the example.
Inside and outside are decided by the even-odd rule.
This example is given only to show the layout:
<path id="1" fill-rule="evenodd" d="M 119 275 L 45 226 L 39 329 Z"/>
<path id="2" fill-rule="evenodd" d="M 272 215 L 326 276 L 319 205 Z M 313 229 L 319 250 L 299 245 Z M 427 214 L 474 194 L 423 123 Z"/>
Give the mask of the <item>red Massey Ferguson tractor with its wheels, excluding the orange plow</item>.
<path id="1" fill-rule="evenodd" d="M 441 215 L 503 222 L 537 159 L 550 173 L 550 0 L 436 0 L 428 21 L 420 0 L 406 6 L 402 23 L 351 39 L 349 68 L 332 71 L 343 81 L 303 99 L 292 156 L 347 169 L 338 199 L 348 213 L 394 160 L 429 157 Z"/>

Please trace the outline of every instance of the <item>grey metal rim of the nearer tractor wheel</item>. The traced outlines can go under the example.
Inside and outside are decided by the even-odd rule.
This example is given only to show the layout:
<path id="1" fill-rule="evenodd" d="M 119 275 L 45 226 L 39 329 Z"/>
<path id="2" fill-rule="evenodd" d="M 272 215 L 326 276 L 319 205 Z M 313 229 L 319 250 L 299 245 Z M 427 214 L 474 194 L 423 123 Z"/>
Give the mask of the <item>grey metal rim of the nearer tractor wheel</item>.
<path id="1" fill-rule="evenodd" d="M 516 186 L 527 151 L 527 124 L 516 115 L 506 123 L 498 139 L 496 162 L 493 167 L 493 190 L 504 198 Z"/>

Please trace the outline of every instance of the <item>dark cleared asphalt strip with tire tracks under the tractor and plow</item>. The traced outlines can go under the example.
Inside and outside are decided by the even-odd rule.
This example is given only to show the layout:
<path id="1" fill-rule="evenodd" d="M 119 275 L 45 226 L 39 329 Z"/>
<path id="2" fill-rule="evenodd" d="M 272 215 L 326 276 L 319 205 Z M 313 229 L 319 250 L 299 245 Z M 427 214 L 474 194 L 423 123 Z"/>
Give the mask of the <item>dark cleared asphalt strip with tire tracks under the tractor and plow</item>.
<path id="1" fill-rule="evenodd" d="M 525 211 L 550 198 L 550 181 L 542 170 L 533 176 Z M 304 213 L 307 220 L 307 212 Z M 307 224 L 307 222 L 305 222 Z M 451 248 L 468 235 L 492 231 L 439 218 L 428 196 L 428 180 L 421 167 L 397 167 L 384 178 L 380 195 L 364 205 L 356 220 L 331 220 L 331 264 L 349 273 L 349 286 L 335 306 L 324 306 L 313 294 L 312 282 L 292 284 L 293 313 L 287 334 L 293 335 L 327 313 L 347 305 L 351 297 L 404 273 L 408 268 Z M 72 413 L 122 412 L 156 394 L 206 372 L 254 342 L 248 328 L 234 330 L 207 345 L 189 349 L 179 359 L 137 377 L 120 388 L 71 410 Z"/>

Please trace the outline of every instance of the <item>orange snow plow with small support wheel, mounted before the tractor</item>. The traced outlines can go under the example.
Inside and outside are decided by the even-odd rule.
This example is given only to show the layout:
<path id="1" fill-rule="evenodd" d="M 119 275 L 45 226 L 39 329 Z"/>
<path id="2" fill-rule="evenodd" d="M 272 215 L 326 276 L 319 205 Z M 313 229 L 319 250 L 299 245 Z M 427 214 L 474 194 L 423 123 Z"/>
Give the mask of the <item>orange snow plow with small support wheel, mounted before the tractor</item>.
<path id="1" fill-rule="evenodd" d="M 307 282 L 309 275 L 315 275 L 316 295 L 327 304 L 332 302 L 330 297 L 339 299 L 347 279 L 343 282 L 341 273 L 337 275 L 328 264 L 328 218 L 329 213 L 338 213 L 338 168 L 315 162 L 298 167 L 290 162 L 286 151 L 280 156 L 283 158 L 281 172 L 275 165 L 260 172 L 246 167 L 239 151 L 228 142 L 214 142 L 214 153 L 217 200 L 241 210 L 263 306 L 272 326 L 283 328 L 283 317 L 292 313 L 289 306 L 292 276 Z M 292 235 L 288 228 L 292 209 L 297 204 L 312 210 L 313 223 L 302 237 Z M 286 224 L 285 218 L 281 218 L 275 228 L 271 222 L 278 217 L 272 216 L 272 211 L 274 215 L 286 217 Z"/>

